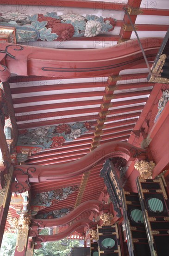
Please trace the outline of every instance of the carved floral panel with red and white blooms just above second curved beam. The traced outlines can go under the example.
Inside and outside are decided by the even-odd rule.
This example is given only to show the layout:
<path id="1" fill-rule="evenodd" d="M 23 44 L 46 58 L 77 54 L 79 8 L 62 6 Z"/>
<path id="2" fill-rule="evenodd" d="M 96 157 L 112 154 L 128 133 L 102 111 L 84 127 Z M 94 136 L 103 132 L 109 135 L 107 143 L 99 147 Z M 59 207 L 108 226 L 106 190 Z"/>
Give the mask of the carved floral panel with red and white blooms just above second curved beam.
<path id="1" fill-rule="evenodd" d="M 73 141 L 83 135 L 91 126 L 92 124 L 86 121 L 19 130 L 17 151 L 23 151 L 21 148 L 27 146 L 32 148 L 32 154 L 47 148 L 59 148 L 64 142 Z"/>

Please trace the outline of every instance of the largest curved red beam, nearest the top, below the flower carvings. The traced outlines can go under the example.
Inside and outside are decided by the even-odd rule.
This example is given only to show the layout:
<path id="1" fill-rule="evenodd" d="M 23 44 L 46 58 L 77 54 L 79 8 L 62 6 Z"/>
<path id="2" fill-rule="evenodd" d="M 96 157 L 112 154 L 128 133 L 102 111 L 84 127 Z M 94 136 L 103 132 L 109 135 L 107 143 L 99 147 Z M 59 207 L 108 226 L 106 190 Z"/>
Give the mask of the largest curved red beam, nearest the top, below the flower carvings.
<path id="1" fill-rule="evenodd" d="M 163 38 L 142 38 L 140 41 L 149 60 L 155 58 Z M 9 46 L 8 43 L 1 44 L 0 50 L 4 53 L 1 64 L 11 73 L 24 76 L 37 74 L 63 78 L 100 76 L 116 73 L 144 62 L 137 39 L 128 40 L 114 47 L 84 50 L 21 47 L 14 44 Z"/>

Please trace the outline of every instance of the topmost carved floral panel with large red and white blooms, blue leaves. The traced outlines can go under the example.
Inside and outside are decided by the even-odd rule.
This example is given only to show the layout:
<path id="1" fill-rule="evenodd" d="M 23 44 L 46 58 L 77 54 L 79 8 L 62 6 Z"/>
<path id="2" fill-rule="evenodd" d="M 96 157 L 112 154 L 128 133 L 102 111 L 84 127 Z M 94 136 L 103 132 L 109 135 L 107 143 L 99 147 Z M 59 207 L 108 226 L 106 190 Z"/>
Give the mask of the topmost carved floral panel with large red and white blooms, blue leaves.
<path id="1" fill-rule="evenodd" d="M 57 13 L 27 15 L 20 12 L 1 12 L 1 25 L 16 27 L 18 42 L 36 40 L 71 40 L 72 37 L 94 37 L 110 32 L 116 20 L 96 15 L 82 16 L 75 13 L 57 15 Z"/>

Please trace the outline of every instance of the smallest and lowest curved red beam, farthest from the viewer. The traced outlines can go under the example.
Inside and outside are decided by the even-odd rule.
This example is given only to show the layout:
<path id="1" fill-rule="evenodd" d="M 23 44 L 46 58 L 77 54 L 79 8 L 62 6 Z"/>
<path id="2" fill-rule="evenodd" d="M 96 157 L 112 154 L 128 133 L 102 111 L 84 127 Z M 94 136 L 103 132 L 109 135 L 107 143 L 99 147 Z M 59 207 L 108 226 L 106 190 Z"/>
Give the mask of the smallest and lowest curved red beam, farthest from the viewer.
<path id="1" fill-rule="evenodd" d="M 91 228 L 94 225 L 96 225 L 96 222 L 92 222 L 89 219 L 82 219 L 77 222 L 74 222 L 63 233 L 51 235 L 51 236 L 38 235 L 35 237 L 35 242 L 42 243 L 42 242 L 52 242 L 52 241 L 61 240 L 65 237 L 69 236 L 71 233 L 73 233 L 75 231 L 75 229 L 80 229 L 81 227 Z"/>

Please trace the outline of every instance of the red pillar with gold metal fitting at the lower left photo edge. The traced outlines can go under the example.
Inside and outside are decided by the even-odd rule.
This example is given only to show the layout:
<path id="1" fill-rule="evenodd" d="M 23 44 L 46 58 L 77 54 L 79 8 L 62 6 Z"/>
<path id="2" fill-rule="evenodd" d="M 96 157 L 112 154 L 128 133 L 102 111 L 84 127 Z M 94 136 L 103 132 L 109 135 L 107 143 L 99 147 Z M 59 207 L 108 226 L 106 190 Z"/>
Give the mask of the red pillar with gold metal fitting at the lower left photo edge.
<path id="1" fill-rule="evenodd" d="M 4 175 L 3 188 L 0 189 L 0 246 L 5 229 L 6 218 L 11 201 L 11 182 L 13 179 L 13 166 L 9 168 L 8 174 Z"/>

